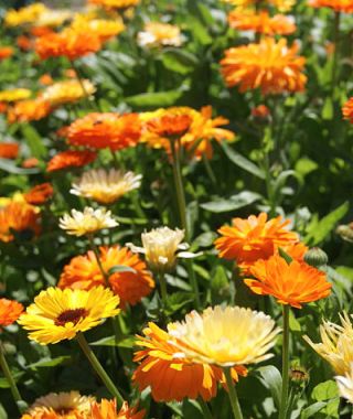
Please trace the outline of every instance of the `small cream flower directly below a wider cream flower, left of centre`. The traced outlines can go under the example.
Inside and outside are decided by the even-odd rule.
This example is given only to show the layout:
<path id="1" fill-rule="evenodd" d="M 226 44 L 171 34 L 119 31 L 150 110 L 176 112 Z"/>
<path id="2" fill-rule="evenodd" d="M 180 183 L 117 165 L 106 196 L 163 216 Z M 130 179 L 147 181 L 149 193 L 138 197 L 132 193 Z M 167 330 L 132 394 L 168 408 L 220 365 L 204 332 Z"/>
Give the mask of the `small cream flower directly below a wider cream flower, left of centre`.
<path id="1" fill-rule="evenodd" d="M 111 212 L 106 208 L 90 208 L 86 206 L 84 212 L 72 210 L 71 215 L 64 214 L 60 218 L 60 228 L 72 236 L 84 236 L 104 228 L 114 228 L 119 224 L 111 217 Z"/>

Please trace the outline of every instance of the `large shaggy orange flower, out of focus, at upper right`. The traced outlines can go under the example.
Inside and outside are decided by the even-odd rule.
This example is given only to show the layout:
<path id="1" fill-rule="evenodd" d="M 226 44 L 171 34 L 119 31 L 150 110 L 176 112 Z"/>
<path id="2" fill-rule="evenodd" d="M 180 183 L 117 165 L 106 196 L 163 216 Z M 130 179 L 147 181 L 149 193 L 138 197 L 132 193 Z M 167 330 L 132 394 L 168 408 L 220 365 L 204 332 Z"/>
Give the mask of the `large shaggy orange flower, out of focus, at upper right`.
<path id="1" fill-rule="evenodd" d="M 266 37 L 258 44 L 225 51 L 222 73 L 228 87 L 239 85 L 240 92 L 260 88 L 264 95 L 302 92 L 307 77 L 302 74 L 306 58 L 298 56 L 298 44 Z"/>

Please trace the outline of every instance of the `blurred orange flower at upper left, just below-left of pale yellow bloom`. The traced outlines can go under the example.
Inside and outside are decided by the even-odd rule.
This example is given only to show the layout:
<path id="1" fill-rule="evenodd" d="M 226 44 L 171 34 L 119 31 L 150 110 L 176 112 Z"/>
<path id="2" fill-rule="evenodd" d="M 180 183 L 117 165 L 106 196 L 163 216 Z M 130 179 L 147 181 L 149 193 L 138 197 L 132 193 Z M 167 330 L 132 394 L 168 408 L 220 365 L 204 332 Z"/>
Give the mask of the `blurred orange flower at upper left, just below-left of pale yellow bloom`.
<path id="1" fill-rule="evenodd" d="M 10 123 L 36 121 L 45 118 L 51 111 L 51 104 L 41 97 L 21 100 L 9 109 L 8 120 Z"/>

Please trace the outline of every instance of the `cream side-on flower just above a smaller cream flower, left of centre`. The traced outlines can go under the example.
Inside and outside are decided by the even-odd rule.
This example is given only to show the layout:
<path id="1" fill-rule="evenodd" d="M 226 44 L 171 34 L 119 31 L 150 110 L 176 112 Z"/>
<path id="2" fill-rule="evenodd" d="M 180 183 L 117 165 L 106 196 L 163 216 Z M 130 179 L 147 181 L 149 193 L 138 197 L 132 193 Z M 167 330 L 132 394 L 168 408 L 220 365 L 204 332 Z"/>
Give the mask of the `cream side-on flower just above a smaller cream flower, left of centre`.
<path id="1" fill-rule="evenodd" d="M 84 172 L 82 178 L 73 183 L 73 189 L 69 192 L 108 205 L 118 201 L 126 193 L 138 189 L 141 179 L 141 174 L 116 169 L 109 171 L 104 169 L 90 170 Z"/>

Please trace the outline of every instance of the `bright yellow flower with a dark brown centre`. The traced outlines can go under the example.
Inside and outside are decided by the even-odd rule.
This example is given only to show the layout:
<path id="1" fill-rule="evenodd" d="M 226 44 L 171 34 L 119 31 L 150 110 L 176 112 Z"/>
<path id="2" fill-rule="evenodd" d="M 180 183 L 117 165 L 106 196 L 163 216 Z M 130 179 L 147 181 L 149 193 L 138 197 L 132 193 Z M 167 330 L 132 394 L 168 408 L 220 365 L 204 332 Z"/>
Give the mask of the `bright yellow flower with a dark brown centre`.
<path id="1" fill-rule="evenodd" d="M 41 345 L 73 339 L 119 313 L 120 300 L 109 289 L 72 290 L 51 287 L 34 298 L 18 321 Z"/>

